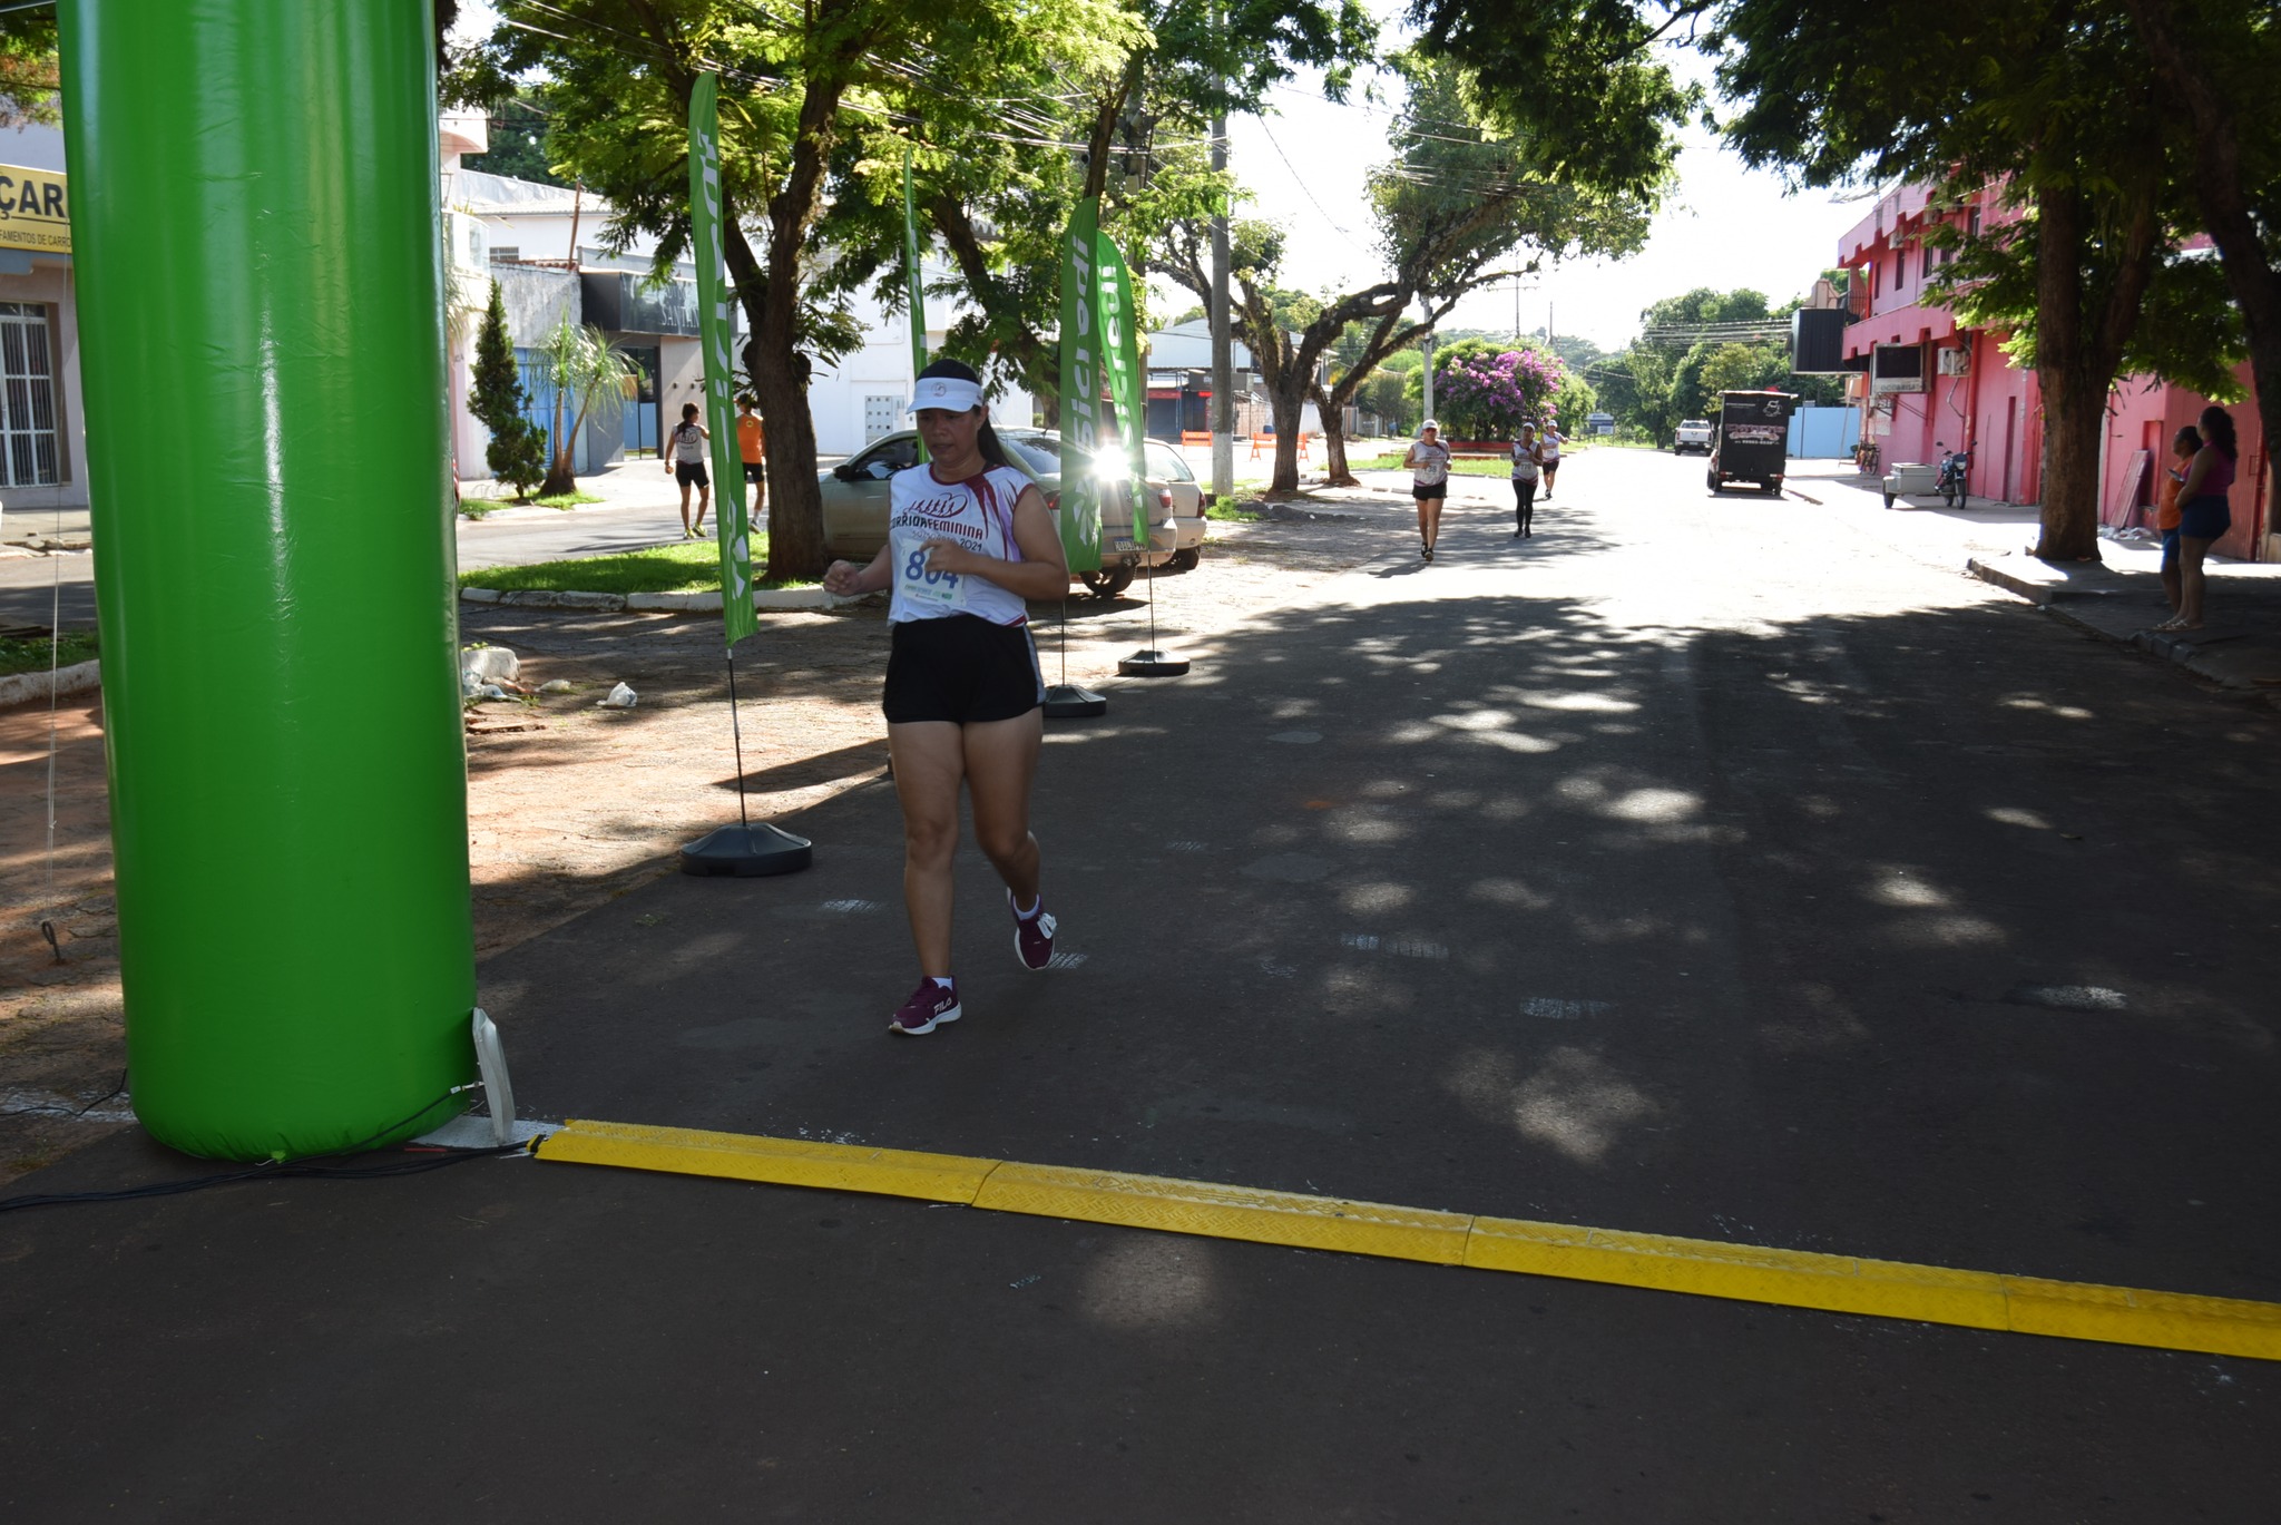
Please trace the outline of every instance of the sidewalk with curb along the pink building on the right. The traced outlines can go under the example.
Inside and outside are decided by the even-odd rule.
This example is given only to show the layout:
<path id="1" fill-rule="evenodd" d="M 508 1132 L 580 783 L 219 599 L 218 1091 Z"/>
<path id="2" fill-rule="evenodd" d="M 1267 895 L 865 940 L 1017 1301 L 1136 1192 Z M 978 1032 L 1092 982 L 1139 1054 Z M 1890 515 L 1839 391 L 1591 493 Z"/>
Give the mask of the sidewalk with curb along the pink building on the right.
<path id="1" fill-rule="evenodd" d="M 2162 596 L 2162 543 L 2153 536 L 2121 541 L 2101 534 L 2101 562 L 2055 566 L 2030 555 L 2035 505 L 1948 509 L 1937 498 L 1902 498 L 1891 511 L 1877 477 L 1854 475 L 1843 461 L 1793 461 L 1791 491 L 1807 502 L 1866 509 L 1900 541 L 1941 548 L 1964 571 L 2019 594 L 2092 635 L 2169 657 L 2199 678 L 2229 689 L 2274 689 L 2281 699 L 2281 564 L 2213 557 L 2208 564 L 2210 623 L 2201 630 L 2158 632 L 2169 614 Z M 1953 562 L 1950 562 L 1953 564 Z"/>

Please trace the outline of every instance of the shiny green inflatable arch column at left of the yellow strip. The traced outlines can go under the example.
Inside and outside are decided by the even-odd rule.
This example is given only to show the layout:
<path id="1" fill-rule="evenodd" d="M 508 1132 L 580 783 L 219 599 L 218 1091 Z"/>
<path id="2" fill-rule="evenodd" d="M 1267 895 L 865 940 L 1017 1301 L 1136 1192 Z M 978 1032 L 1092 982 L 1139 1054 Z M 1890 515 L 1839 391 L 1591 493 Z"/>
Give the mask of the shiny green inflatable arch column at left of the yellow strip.
<path id="1" fill-rule="evenodd" d="M 408 1137 L 474 1073 L 431 9 L 59 11 L 135 1110 Z"/>

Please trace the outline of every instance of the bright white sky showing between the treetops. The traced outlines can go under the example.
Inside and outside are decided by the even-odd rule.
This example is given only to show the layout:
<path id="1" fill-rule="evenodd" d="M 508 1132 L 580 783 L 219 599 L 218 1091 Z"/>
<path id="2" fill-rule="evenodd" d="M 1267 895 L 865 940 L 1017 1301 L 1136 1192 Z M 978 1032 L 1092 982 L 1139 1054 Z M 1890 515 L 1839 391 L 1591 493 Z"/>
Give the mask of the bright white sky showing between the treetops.
<path id="1" fill-rule="evenodd" d="M 1389 41 L 1403 0 L 1373 0 Z M 461 5 L 461 34 L 488 34 L 495 16 L 484 0 Z M 1704 59 L 1672 48 L 1672 66 L 1690 80 L 1706 78 Z M 1362 100 L 1357 89 L 1350 100 Z M 1271 91 L 1268 116 L 1229 121 L 1229 167 L 1250 192 L 1243 215 L 1286 228 L 1282 285 L 1353 290 L 1380 276 L 1371 251 L 1371 219 L 1362 178 L 1387 158 L 1385 105 L 1332 105 L 1314 78 Z M 1702 128 L 1688 128 L 1679 155 L 1679 189 L 1654 219 L 1647 247 L 1629 260 L 1549 265 L 1519 292 L 1524 331 L 1551 320 L 1558 333 L 1583 333 L 1606 349 L 1622 349 L 1640 329 L 1640 308 L 1697 285 L 1750 285 L 1772 301 L 1804 294 L 1823 267 L 1836 263 L 1838 235 L 1866 212 L 1866 199 L 1836 201 L 1829 192 L 1786 196 L 1770 171 L 1745 169 Z M 1193 306 L 1186 292 L 1163 290 L 1159 310 Z M 1510 329 L 1515 288 L 1474 292 L 1451 315 L 1458 329 Z"/>

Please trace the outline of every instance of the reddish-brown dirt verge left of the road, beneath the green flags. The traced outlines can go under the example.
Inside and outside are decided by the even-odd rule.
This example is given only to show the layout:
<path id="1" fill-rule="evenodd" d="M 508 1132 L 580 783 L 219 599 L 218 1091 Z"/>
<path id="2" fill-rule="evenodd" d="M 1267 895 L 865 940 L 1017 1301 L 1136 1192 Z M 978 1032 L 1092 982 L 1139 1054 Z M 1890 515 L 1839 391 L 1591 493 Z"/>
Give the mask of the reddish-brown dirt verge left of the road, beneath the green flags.
<path id="1" fill-rule="evenodd" d="M 1122 598 L 1072 598 L 1068 676 L 1099 685 L 1147 644 L 1202 662 L 1218 632 L 1407 543 L 1398 498 L 1337 495 L 1337 521 L 1216 523 L 1195 571 Z M 1330 502 L 1325 502 L 1330 507 Z M 1375 507 L 1378 514 L 1355 514 Z M 1047 683 L 1063 673 L 1058 610 L 1033 610 Z M 570 694 L 470 710 L 468 858 L 477 954 L 557 927 L 673 872 L 675 849 L 737 820 L 719 616 L 461 605 L 468 642 L 511 646 L 531 687 Z M 814 806 L 887 767 L 880 603 L 762 614 L 737 653 L 744 783 L 755 820 Z M 634 710 L 598 710 L 614 683 Z M 43 705 L 0 712 L 0 1180 L 130 1125 L 100 703 L 55 717 L 48 849 Z M 62 961 L 39 934 L 57 931 Z"/>

